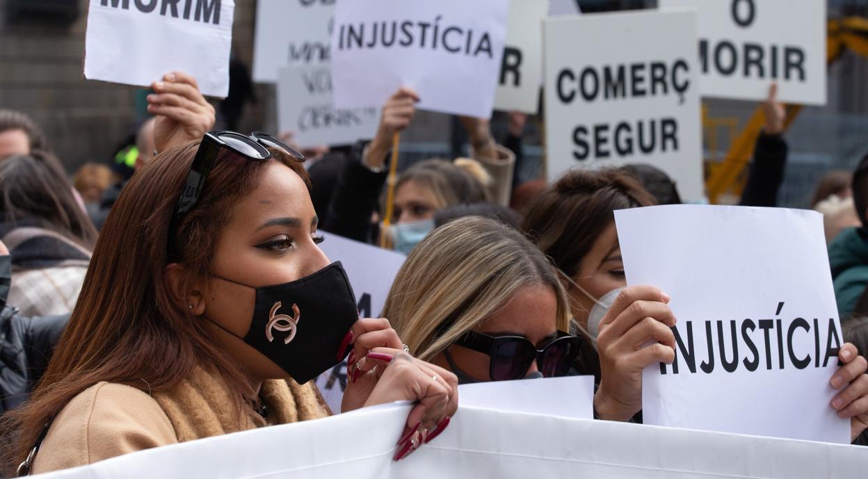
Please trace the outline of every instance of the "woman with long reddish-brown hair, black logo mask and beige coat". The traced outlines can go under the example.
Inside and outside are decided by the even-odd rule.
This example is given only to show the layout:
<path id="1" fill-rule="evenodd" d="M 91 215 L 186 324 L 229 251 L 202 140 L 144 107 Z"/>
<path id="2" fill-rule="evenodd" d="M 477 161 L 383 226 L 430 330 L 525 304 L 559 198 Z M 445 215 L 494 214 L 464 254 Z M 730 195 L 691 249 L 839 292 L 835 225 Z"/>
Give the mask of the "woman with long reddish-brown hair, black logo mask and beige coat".
<path id="1" fill-rule="evenodd" d="M 344 410 L 418 401 L 400 459 L 457 409 L 457 378 L 358 319 L 316 246 L 303 159 L 212 132 L 137 172 L 112 208 L 42 384 L 6 419 L 22 472 L 329 414 L 312 377 L 352 356 Z M 46 426 L 43 427 L 43 424 Z M 398 438 L 396 438 L 398 439 Z"/>

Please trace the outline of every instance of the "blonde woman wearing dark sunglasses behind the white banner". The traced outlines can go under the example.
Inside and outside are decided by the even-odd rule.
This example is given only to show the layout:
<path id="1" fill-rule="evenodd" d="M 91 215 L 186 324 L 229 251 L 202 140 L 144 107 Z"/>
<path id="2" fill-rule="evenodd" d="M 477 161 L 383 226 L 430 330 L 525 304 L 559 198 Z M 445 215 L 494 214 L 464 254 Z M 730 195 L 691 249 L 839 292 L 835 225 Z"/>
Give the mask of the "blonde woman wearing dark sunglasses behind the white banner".
<path id="1" fill-rule="evenodd" d="M 653 293 L 637 288 L 613 308 L 628 310 L 633 297 Z M 383 315 L 418 358 L 451 370 L 460 384 L 595 369 L 588 361 L 596 352 L 570 322 L 554 266 L 521 233 L 495 220 L 468 217 L 431 232 L 398 272 Z M 607 372 L 610 383 L 625 384 L 629 371 Z M 621 392 L 598 390 L 595 417 L 631 417 L 619 409 Z"/>

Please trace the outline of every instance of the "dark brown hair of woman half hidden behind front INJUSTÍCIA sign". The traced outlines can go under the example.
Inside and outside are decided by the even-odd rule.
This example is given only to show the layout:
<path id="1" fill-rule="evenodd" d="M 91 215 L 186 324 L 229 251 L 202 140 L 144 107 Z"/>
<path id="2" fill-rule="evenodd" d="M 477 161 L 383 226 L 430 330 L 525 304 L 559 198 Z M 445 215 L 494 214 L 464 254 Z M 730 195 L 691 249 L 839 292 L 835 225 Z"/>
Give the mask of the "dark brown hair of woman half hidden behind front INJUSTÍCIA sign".
<path id="1" fill-rule="evenodd" d="M 656 204 L 631 175 L 617 169 L 573 170 L 530 207 L 523 229 L 555 266 L 574 277 L 615 210 Z"/>

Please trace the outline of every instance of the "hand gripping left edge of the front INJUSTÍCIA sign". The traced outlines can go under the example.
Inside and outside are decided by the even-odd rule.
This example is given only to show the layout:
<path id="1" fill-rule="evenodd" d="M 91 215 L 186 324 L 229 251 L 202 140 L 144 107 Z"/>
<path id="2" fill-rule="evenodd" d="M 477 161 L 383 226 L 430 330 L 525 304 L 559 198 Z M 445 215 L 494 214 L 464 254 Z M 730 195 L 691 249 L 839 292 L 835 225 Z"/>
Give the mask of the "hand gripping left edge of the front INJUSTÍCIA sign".
<path id="1" fill-rule="evenodd" d="M 642 371 L 671 364 L 675 316 L 669 296 L 653 286 L 628 287 L 600 322 L 597 350 L 602 378 L 594 407 L 602 419 L 627 421 L 642 407 Z M 650 343 L 649 343 L 650 341 Z"/>

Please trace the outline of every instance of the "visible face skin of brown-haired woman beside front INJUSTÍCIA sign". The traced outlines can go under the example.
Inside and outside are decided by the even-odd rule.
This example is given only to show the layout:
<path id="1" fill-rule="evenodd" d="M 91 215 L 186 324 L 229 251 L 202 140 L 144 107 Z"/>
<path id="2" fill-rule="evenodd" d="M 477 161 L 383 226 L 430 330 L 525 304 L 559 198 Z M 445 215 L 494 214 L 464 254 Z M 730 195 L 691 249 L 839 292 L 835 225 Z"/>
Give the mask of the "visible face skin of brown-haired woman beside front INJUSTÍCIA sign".
<path id="1" fill-rule="evenodd" d="M 627 286 L 624 277 L 624 261 L 621 259 L 621 246 L 618 244 L 618 232 L 615 223 L 609 224 L 600 233 L 594 246 L 582 258 L 579 272 L 573 280 L 595 299 L 600 299 L 612 290 Z M 568 285 L 570 305 L 573 318 L 582 325 L 588 324 L 588 314 L 595 303 L 588 294 L 581 292 L 574 285 Z"/>

